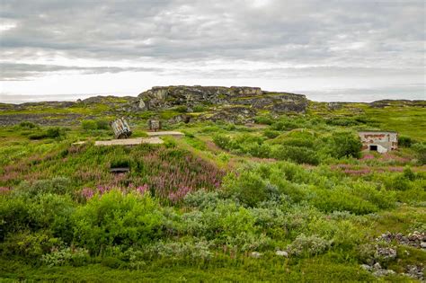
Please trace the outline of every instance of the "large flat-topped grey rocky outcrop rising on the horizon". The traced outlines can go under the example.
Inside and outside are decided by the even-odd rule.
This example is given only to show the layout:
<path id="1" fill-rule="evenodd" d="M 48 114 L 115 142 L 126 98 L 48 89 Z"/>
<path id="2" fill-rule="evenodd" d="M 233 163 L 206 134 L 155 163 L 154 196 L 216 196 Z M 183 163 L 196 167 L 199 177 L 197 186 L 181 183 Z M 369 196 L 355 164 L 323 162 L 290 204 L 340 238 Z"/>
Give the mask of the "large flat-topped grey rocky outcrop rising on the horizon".
<path id="1" fill-rule="evenodd" d="M 195 105 L 245 106 L 254 110 L 279 113 L 305 112 L 305 95 L 264 92 L 247 86 L 155 86 L 138 95 L 140 110 L 164 110 L 179 105 L 190 109 Z"/>

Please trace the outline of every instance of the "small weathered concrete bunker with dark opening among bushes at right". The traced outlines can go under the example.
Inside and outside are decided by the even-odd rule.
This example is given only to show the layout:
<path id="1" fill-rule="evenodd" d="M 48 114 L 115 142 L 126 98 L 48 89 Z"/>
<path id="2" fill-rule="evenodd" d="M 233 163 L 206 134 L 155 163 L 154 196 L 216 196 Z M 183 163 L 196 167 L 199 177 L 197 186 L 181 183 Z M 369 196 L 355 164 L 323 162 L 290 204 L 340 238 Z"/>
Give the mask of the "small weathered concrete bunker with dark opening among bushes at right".
<path id="1" fill-rule="evenodd" d="M 377 152 L 386 153 L 398 148 L 396 132 L 360 131 L 359 138 L 364 150 L 369 150 L 370 146 L 377 146 Z"/>

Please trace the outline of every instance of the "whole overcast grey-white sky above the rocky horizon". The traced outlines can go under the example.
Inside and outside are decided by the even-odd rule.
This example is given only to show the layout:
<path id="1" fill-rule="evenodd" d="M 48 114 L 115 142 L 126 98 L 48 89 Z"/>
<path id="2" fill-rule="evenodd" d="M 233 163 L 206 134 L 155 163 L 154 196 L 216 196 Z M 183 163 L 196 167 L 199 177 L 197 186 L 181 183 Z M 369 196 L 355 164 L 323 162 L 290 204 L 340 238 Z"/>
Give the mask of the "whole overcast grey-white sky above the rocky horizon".
<path id="1" fill-rule="evenodd" d="M 249 85 L 426 99 L 424 1 L 0 1 L 0 102 Z"/>

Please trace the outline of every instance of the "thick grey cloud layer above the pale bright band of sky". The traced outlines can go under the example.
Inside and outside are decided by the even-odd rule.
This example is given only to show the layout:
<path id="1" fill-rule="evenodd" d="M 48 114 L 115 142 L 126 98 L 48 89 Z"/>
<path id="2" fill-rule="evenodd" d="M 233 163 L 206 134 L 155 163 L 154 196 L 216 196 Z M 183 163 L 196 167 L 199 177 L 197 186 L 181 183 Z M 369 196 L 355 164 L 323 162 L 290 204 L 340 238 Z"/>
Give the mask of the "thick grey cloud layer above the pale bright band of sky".
<path id="1" fill-rule="evenodd" d="M 2 48 L 61 51 L 70 57 L 318 61 L 346 57 L 330 46 L 365 41 L 375 59 L 400 41 L 424 40 L 422 1 L 10 1 L 18 26 Z M 338 36 L 344 35 L 345 40 Z M 377 45 L 380 40 L 385 44 Z M 296 47 L 296 48 L 292 48 Z M 422 50 L 405 47 L 417 56 Z M 405 49 L 406 50 L 406 49 Z M 391 59 L 389 57 L 388 59 Z"/>

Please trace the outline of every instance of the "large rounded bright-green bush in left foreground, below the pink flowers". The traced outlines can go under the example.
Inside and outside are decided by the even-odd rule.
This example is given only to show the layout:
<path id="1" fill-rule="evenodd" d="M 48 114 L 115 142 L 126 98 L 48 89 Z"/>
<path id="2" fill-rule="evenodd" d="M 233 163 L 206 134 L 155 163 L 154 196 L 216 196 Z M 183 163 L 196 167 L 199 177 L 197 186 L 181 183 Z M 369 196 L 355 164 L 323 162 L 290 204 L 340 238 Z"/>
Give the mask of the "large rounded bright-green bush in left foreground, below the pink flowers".
<path id="1" fill-rule="evenodd" d="M 148 194 L 111 190 L 77 208 L 73 217 L 75 243 L 91 253 L 108 245 L 140 246 L 163 236 L 163 216 Z"/>

